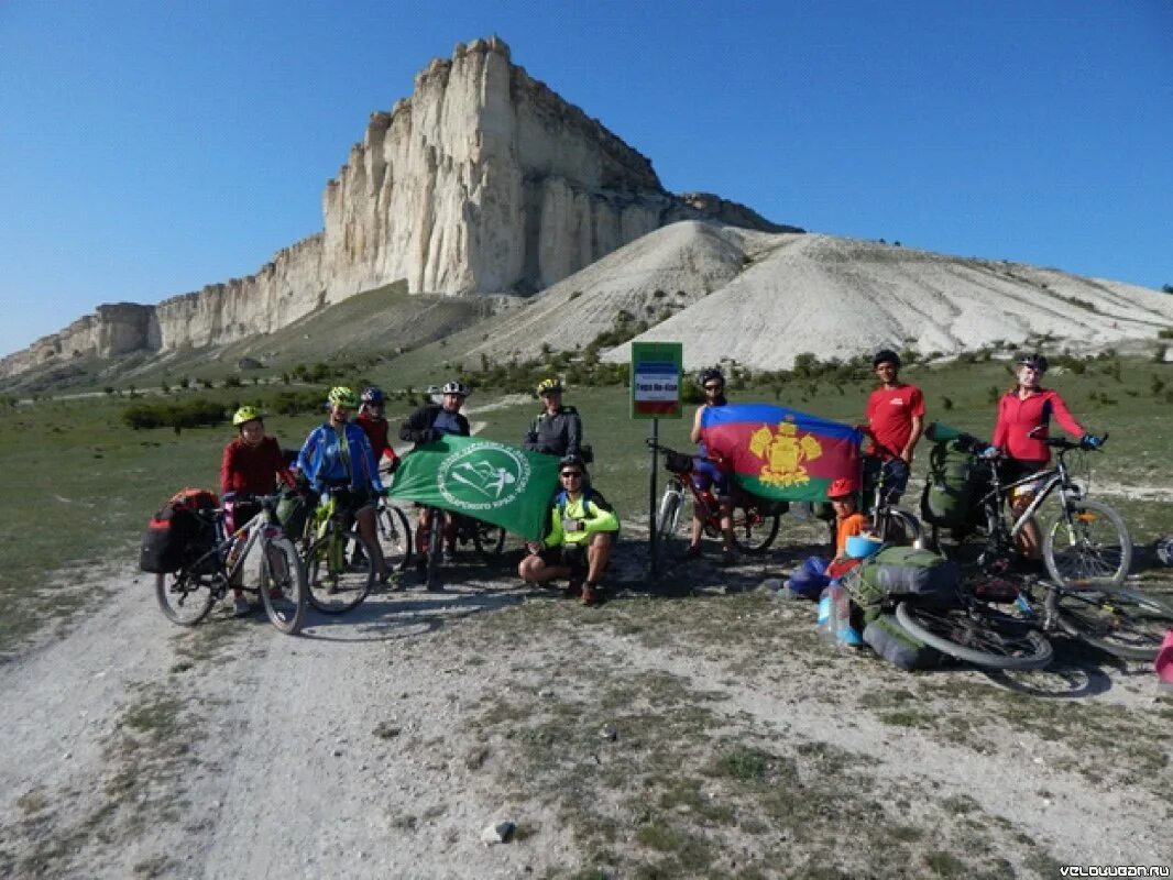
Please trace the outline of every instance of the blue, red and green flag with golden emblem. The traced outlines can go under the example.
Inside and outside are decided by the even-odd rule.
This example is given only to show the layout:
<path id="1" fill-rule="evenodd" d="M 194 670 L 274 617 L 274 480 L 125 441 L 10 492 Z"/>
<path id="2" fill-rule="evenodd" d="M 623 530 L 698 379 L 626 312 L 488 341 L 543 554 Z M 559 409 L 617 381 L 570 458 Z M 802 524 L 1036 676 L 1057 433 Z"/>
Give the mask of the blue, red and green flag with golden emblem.
<path id="1" fill-rule="evenodd" d="M 830 482 L 860 479 L 863 433 L 818 415 L 769 404 L 707 407 L 701 432 L 738 485 L 780 501 L 825 501 Z"/>

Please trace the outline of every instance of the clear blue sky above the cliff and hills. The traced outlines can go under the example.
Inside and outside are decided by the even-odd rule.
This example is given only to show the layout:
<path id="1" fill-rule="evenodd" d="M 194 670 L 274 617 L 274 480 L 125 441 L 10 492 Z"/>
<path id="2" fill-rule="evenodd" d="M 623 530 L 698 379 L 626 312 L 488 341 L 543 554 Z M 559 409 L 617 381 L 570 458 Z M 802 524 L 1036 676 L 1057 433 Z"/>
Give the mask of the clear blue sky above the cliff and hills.
<path id="1" fill-rule="evenodd" d="M 0 0 L 0 353 L 320 230 L 368 115 L 493 33 L 672 191 L 1173 283 L 1171 0 Z"/>

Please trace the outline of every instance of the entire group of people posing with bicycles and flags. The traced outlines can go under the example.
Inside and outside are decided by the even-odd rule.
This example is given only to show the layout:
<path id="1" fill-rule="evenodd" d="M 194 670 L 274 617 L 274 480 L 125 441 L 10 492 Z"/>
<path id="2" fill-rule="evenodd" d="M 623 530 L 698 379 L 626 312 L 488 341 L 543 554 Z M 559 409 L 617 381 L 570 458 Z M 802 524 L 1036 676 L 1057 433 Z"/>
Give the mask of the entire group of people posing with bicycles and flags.
<path id="1" fill-rule="evenodd" d="M 866 407 L 866 434 L 872 449 L 866 460 L 874 473 L 882 472 L 888 500 L 895 503 L 904 493 L 917 441 L 924 428 L 924 395 L 920 388 L 900 378 L 900 357 L 882 350 L 872 361 L 879 386 L 869 395 Z M 1042 386 L 1047 361 L 1042 354 L 1019 357 L 1015 363 L 1016 381 L 998 400 L 997 420 L 989 455 L 1004 460 L 1015 479 L 1043 471 L 1050 461 L 1046 445 L 1047 429 L 1053 417 L 1059 425 L 1084 446 L 1097 448 L 1101 439 L 1086 432 L 1072 417 L 1063 398 Z M 720 505 L 723 559 L 734 559 L 732 528 L 733 489 L 730 474 L 717 456 L 705 447 L 704 413 L 710 407 L 728 406 L 725 375 L 718 368 L 704 370 L 698 377 L 704 402 L 697 408 L 691 431 L 698 445 L 696 476 L 711 487 Z M 527 431 L 522 446 L 533 452 L 560 459 L 560 489 L 550 500 L 545 537 L 527 542 L 527 555 L 518 566 L 518 575 L 531 583 L 564 580 L 567 595 L 581 596 L 585 604 L 601 600 L 601 578 L 611 557 L 619 528 L 615 509 L 590 485 L 586 465 L 591 449 L 583 442 L 582 418 L 572 406 L 563 404 L 563 387 L 557 379 L 543 379 L 536 393 L 542 412 Z M 440 400 L 426 401 L 402 424 L 399 438 L 416 446 L 433 442 L 446 434 L 468 436 L 468 419 L 461 412 L 469 388 L 449 381 L 440 388 Z M 380 583 L 387 583 L 391 571 L 379 550 L 375 535 L 375 503 L 387 487 L 380 474 L 393 474 L 400 459 L 389 442 L 389 426 L 385 415 L 386 395 L 378 387 L 364 390 L 361 398 L 351 388 L 334 387 L 326 400 L 327 419 L 313 428 L 305 439 L 293 469 L 286 462 L 276 438 L 264 432 L 264 414 L 252 406 L 242 406 L 232 424 L 238 435 L 224 448 L 221 467 L 221 489 L 228 499 L 237 499 L 232 519 L 246 522 L 257 513 L 249 499 L 270 495 L 278 483 L 291 489 L 301 487 L 311 499 L 330 494 L 353 517 L 359 534 L 365 537 L 375 559 L 374 569 Z M 357 411 L 352 421 L 351 414 Z M 847 539 L 867 528 L 867 519 L 859 510 L 861 486 L 854 479 L 835 480 L 828 492 L 836 517 L 835 549 L 843 554 Z M 1016 512 L 1029 506 L 1031 485 L 1023 486 L 1012 499 Z M 446 514 L 438 527 L 443 529 L 443 562 L 452 561 L 456 536 L 455 520 Z M 693 510 L 691 541 L 686 557 L 701 554 L 703 521 Z M 232 521 L 229 522 L 233 527 Z M 420 508 L 415 533 L 418 561 L 426 569 L 428 530 L 434 526 L 428 508 Z M 1019 548 L 1026 556 L 1037 556 L 1038 536 L 1033 529 L 1023 533 Z M 237 585 L 238 587 L 238 585 Z M 249 603 L 239 589 L 233 593 L 235 611 L 249 614 Z"/>

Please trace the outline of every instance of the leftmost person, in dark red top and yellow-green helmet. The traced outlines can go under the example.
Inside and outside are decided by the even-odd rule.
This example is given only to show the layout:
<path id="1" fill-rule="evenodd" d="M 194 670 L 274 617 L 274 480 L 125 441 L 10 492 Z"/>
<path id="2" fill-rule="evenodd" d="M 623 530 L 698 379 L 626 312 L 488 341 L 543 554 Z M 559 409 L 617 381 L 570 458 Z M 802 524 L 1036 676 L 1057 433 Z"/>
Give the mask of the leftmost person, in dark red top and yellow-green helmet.
<path id="1" fill-rule="evenodd" d="M 264 413 L 255 406 L 242 406 L 232 415 L 232 424 L 239 435 L 224 447 L 221 460 L 221 493 L 238 495 L 239 501 L 226 500 L 225 526 L 235 532 L 258 513 L 260 507 L 251 501 L 252 495 L 272 495 L 277 490 L 278 478 L 286 486 L 293 486 L 293 475 L 285 465 L 285 456 L 277 438 L 265 434 Z M 239 577 L 239 575 L 238 575 Z M 233 584 L 233 612 L 240 617 L 251 610 L 239 584 Z"/>

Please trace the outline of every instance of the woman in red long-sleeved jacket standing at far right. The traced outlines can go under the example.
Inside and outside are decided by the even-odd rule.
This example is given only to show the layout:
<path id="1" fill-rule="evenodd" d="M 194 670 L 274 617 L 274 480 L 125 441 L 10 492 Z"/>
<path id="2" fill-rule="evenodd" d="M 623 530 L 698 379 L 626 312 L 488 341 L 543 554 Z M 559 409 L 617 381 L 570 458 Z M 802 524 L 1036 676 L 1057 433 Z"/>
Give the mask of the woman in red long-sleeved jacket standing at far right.
<path id="1" fill-rule="evenodd" d="M 1044 388 L 1039 380 L 1046 372 L 1042 354 L 1023 354 L 1016 363 L 1018 381 L 998 401 L 998 420 L 994 426 L 994 448 L 989 454 L 1002 454 L 1006 462 L 1006 480 L 1013 482 L 1046 468 L 1051 448 L 1046 445 L 1053 415 L 1059 425 L 1089 449 L 1099 448 L 1103 439 L 1089 434 L 1076 421 L 1058 392 Z M 1010 507 L 1015 516 L 1022 514 L 1035 497 L 1035 483 L 1023 483 L 1013 492 Z M 1033 522 L 1018 533 L 1018 549 L 1023 555 L 1039 555 L 1038 528 Z"/>

